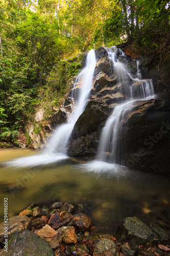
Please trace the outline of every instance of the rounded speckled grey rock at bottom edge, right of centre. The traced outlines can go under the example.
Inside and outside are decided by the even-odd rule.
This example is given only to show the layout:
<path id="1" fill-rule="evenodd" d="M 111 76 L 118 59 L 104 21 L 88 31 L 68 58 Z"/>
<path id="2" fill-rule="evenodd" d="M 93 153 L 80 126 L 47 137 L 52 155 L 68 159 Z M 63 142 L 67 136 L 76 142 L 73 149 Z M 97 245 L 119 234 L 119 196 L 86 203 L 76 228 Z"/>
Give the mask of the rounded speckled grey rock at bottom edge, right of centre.
<path id="1" fill-rule="evenodd" d="M 108 239 L 102 239 L 97 241 L 94 246 L 94 255 L 103 253 L 104 251 L 110 251 L 113 253 L 113 256 L 118 256 L 118 248 L 113 241 Z"/>

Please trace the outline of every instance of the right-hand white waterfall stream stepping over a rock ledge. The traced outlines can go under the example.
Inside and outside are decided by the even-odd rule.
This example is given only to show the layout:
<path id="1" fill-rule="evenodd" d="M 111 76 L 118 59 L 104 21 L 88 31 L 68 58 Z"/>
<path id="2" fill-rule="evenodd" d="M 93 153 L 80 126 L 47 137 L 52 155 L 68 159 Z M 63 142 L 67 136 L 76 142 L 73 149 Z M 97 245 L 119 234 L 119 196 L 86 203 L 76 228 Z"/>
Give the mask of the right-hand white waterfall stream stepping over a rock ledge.
<path id="1" fill-rule="evenodd" d="M 125 56 L 120 50 L 113 47 L 108 49 L 108 56 L 113 61 L 113 72 L 121 84 L 126 102 L 117 105 L 108 118 L 102 131 L 98 148 L 99 161 L 123 164 L 125 155 L 125 132 L 128 129 L 127 119 L 132 112 L 134 102 L 137 100 L 149 100 L 155 98 L 151 79 L 140 80 L 139 62 L 137 62 L 137 78 L 133 78 L 126 66 L 118 61 L 119 56 Z"/>

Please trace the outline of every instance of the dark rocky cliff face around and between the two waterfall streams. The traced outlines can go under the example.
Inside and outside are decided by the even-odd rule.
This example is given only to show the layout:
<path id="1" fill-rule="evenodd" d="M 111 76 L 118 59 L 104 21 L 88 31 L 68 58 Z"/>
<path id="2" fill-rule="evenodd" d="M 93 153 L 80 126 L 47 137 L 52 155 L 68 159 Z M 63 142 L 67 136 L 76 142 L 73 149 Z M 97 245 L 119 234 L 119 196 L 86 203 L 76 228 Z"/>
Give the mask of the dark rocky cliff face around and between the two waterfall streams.
<path id="1" fill-rule="evenodd" d="M 107 118 L 111 115 L 117 104 L 127 99 L 127 91 L 123 83 L 117 82 L 113 74 L 113 63 L 108 57 L 106 49 L 95 50 L 97 59 L 93 89 L 85 111 L 77 120 L 72 131 L 68 155 L 71 157 L 94 158 L 99 146 L 101 131 Z M 142 78 L 152 78 L 154 91 L 157 94 L 155 99 L 136 101 L 125 120 L 125 155 L 122 157 L 122 164 L 141 169 L 148 172 L 169 175 L 169 152 L 170 152 L 170 55 L 167 55 L 161 65 L 153 64 L 151 56 L 140 56 L 139 68 Z M 130 56 L 119 56 L 119 61 L 124 62 L 129 72 L 134 76 L 137 72 L 136 60 Z M 41 142 L 37 147 L 42 146 L 42 137 L 48 137 L 50 131 L 60 123 L 66 122 L 69 113 L 76 104 L 71 98 L 77 98 L 81 81 L 75 86 L 76 77 L 70 80 L 70 88 L 64 106 L 50 121 L 43 125 Z M 135 84 L 140 86 L 140 84 Z M 44 134 L 44 135 L 43 135 Z M 45 135 L 46 134 L 46 135 Z M 45 145 L 46 137 L 43 140 Z M 33 145 L 34 146 L 34 145 Z M 34 146 L 36 148 L 36 146 Z"/>

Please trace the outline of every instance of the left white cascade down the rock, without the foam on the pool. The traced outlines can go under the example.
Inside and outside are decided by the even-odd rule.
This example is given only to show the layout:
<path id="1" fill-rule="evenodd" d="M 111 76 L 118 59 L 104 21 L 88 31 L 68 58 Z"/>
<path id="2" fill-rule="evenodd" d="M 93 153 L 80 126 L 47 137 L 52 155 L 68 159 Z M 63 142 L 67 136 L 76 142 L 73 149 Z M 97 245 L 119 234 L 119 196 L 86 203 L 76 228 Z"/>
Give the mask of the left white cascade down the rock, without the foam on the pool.
<path id="1" fill-rule="evenodd" d="M 49 140 L 48 148 L 46 148 L 45 150 L 46 153 L 67 153 L 67 145 L 71 136 L 72 129 L 74 128 L 74 125 L 78 120 L 79 116 L 83 113 L 87 99 L 89 97 L 90 90 L 92 89 L 92 78 L 95 64 L 95 52 L 94 50 L 91 50 L 87 55 L 86 67 L 81 71 L 76 80 L 76 83 L 80 79 L 82 80 L 81 89 L 79 89 L 79 97 L 77 99 L 77 106 L 70 115 L 68 123 L 62 124 L 57 127 L 53 137 L 51 137 L 51 139 Z M 76 89 L 74 91 L 76 91 Z M 74 93 L 72 93 L 72 95 L 74 96 Z"/>

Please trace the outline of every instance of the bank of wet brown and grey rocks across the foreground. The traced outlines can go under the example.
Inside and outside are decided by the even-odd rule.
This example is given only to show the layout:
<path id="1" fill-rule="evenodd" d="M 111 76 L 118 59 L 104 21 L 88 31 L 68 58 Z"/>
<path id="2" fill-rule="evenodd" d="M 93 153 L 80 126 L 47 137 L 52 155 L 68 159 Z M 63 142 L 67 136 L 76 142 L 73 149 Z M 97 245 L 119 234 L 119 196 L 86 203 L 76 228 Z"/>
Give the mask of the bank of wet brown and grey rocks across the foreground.
<path id="1" fill-rule="evenodd" d="M 8 224 L 8 232 L 5 222 L 0 225 L 0 255 L 170 255 L 169 237 L 161 227 L 130 217 L 118 224 L 116 236 L 95 233 L 82 204 L 33 203 Z"/>

